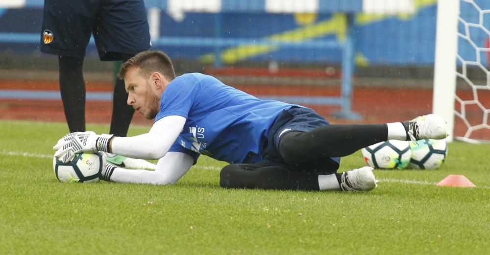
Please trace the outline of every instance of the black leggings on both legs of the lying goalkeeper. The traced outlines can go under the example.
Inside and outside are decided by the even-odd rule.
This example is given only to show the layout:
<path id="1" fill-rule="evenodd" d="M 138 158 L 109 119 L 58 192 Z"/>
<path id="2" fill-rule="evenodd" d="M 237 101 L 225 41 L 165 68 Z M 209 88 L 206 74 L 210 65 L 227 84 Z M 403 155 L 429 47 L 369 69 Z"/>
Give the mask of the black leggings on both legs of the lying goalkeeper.
<path id="1" fill-rule="evenodd" d="M 328 169 L 331 157 L 350 155 L 368 145 L 386 141 L 388 126 L 326 125 L 310 132 L 289 132 L 279 142 L 283 165 L 265 162 L 229 164 L 221 170 L 220 185 L 226 188 L 319 190 L 318 175 Z M 337 174 L 340 179 L 340 174 Z"/>

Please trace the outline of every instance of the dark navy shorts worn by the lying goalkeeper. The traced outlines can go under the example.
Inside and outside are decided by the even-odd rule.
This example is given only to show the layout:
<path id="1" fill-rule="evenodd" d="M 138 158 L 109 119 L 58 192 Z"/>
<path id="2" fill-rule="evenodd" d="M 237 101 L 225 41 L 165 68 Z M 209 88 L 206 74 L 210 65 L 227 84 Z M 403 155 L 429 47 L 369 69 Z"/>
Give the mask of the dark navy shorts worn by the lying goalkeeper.
<path id="1" fill-rule="evenodd" d="M 330 125 L 330 123 L 310 108 L 293 107 L 284 110 L 270 128 L 267 147 L 263 153 L 264 161 L 270 165 L 285 165 L 286 163 L 278 149 L 281 137 L 289 132 L 308 132 L 324 125 Z M 321 162 L 309 162 L 304 165 L 287 167 L 305 170 L 316 168 L 317 165 L 321 165 L 324 173 L 336 172 L 340 165 L 340 158 L 328 158 L 321 160 Z"/>

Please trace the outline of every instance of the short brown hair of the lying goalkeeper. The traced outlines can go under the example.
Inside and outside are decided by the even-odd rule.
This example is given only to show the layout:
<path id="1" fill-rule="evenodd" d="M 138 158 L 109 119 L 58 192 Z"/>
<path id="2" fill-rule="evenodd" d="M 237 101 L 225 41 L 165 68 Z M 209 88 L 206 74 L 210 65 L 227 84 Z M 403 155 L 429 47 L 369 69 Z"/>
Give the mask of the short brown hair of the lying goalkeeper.
<path id="1" fill-rule="evenodd" d="M 144 77 L 154 72 L 160 72 L 169 81 L 175 78 L 175 71 L 170 57 L 160 50 L 142 51 L 128 59 L 121 65 L 118 77 L 124 79 L 124 75 L 130 68 L 138 68 Z"/>

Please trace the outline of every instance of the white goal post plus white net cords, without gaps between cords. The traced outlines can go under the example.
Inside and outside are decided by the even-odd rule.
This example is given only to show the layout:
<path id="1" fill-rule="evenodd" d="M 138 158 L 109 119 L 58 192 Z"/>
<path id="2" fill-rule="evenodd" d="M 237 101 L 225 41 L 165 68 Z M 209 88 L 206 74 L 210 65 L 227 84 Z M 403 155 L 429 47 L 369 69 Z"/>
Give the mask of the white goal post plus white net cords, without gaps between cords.
<path id="1" fill-rule="evenodd" d="M 460 17 L 461 2 L 472 4 L 480 13 L 478 23 L 466 22 Z M 435 114 L 441 115 L 447 121 L 449 137 L 447 141 L 461 140 L 471 143 L 490 142 L 490 140 L 472 139 L 473 131 L 486 129 L 490 132 L 490 109 L 480 102 L 478 90 L 490 90 L 490 71 L 486 70 L 481 63 L 481 52 L 490 52 L 488 46 L 477 46 L 470 38 L 470 27 L 480 27 L 489 35 L 490 28 L 483 27 L 483 14 L 490 13 L 490 10 L 482 10 L 473 0 L 438 0 L 437 9 L 437 31 L 436 31 L 436 56 L 434 61 L 434 93 L 433 108 Z M 462 24 L 465 31 L 458 31 L 458 25 Z M 458 52 L 458 40 L 466 40 L 475 48 L 476 60 L 465 60 Z M 457 61 L 461 61 L 461 71 L 458 71 Z M 467 77 L 467 66 L 479 66 L 487 74 L 487 85 L 475 85 Z M 456 94 L 457 79 L 465 80 L 473 89 L 473 100 L 463 100 Z M 455 101 L 461 107 L 455 109 Z M 483 110 L 482 123 L 472 125 L 466 116 L 466 106 L 476 105 Z M 467 131 L 463 137 L 454 137 L 455 117 L 460 118 L 466 125 Z"/>

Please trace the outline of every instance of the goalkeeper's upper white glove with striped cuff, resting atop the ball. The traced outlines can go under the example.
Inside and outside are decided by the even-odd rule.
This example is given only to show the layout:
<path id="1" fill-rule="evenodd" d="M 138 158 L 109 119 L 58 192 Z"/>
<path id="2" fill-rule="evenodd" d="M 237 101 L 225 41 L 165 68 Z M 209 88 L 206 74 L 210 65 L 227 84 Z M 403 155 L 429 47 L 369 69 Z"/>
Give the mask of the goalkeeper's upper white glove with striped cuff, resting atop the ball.
<path id="1" fill-rule="evenodd" d="M 70 133 L 58 140 L 53 149 L 54 157 L 63 163 L 73 159 L 80 152 L 109 152 L 109 141 L 114 135 L 97 135 L 92 131 Z"/>

